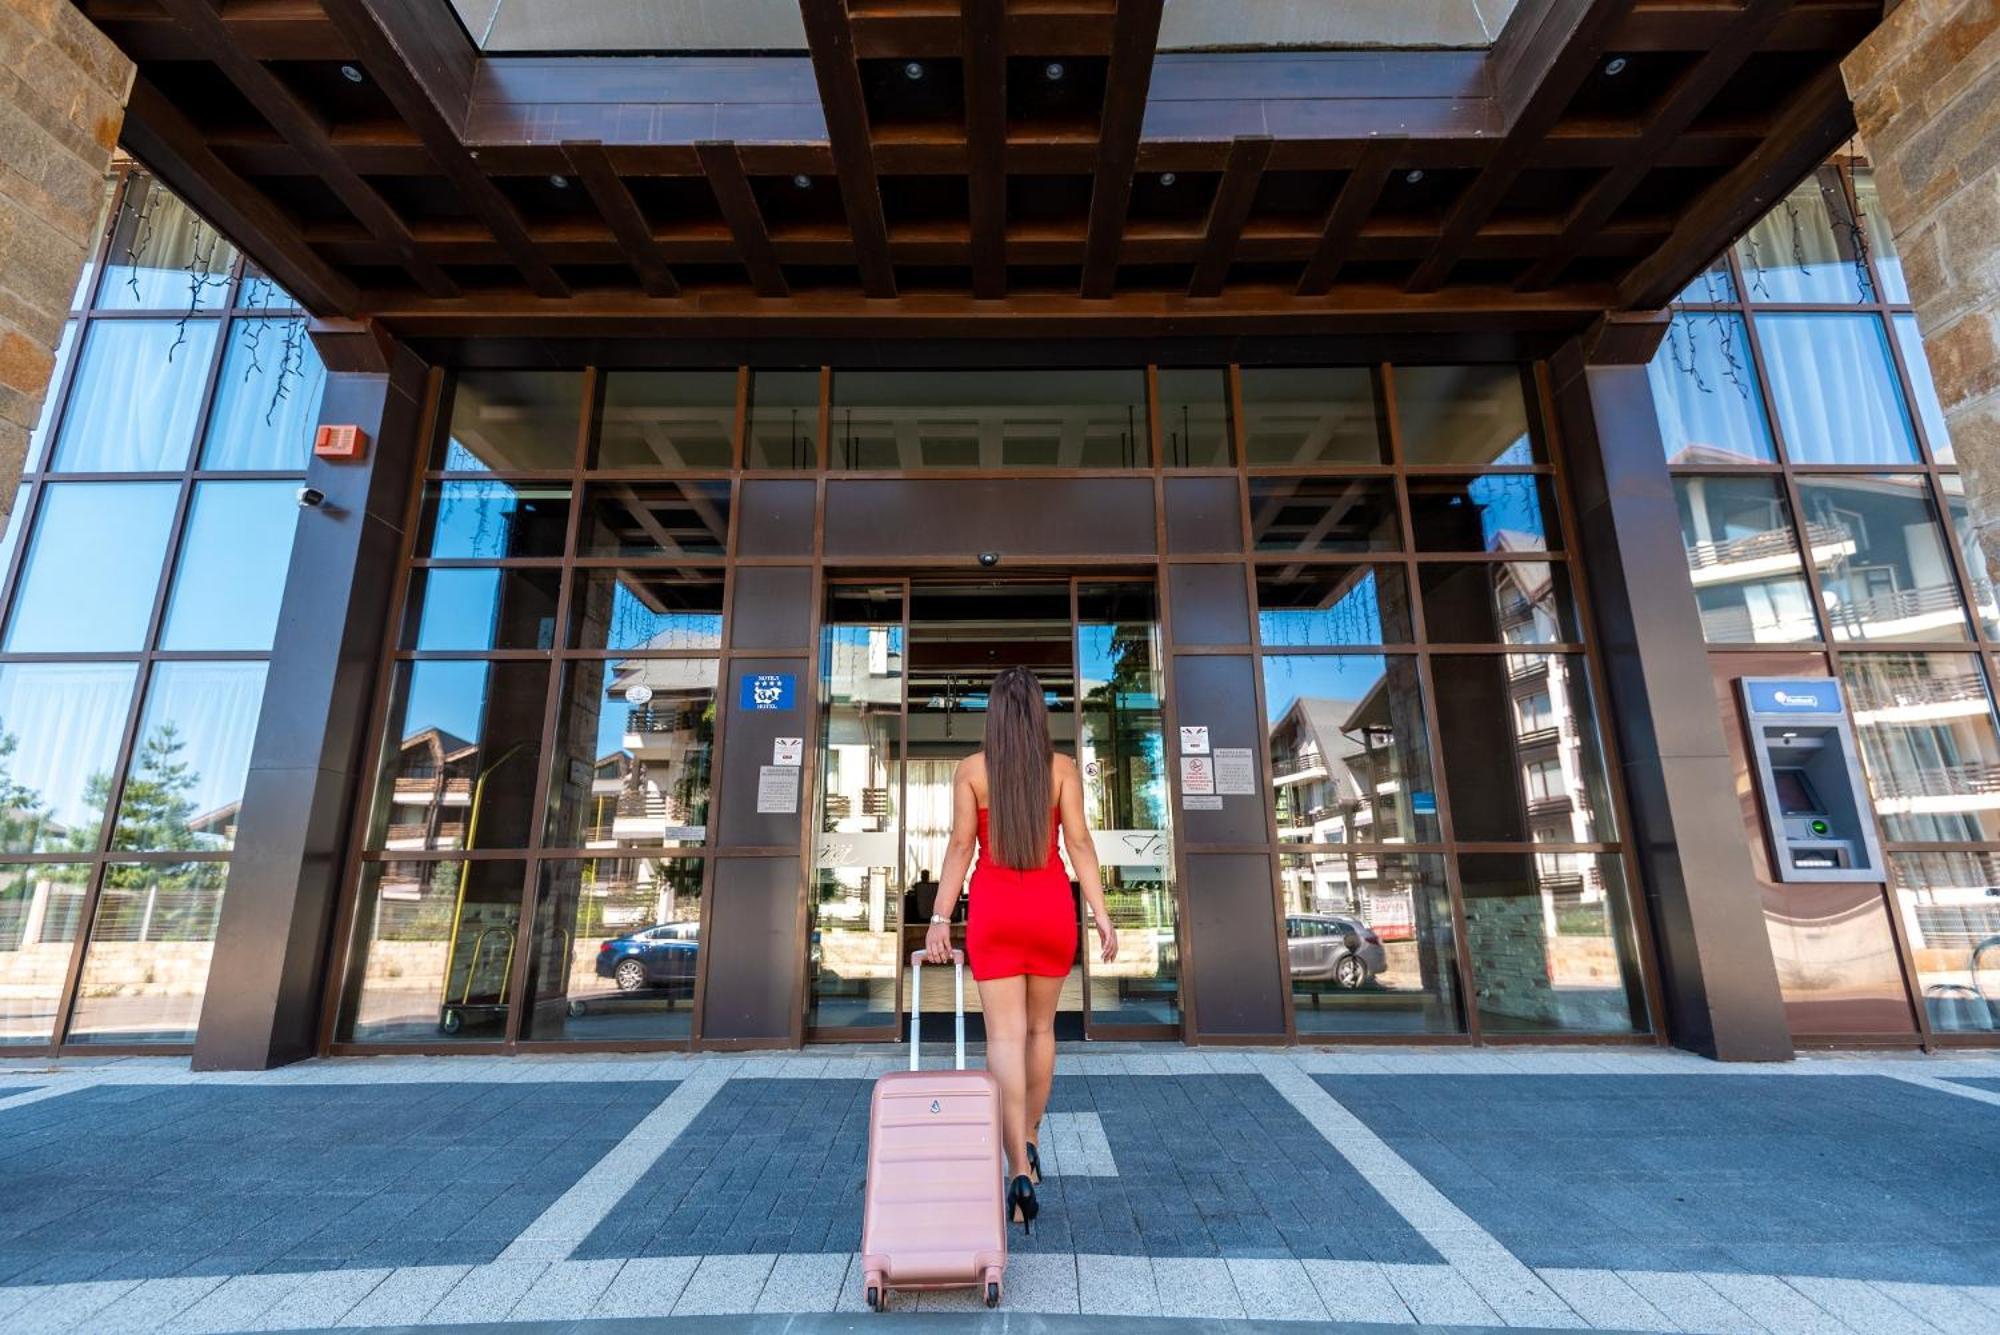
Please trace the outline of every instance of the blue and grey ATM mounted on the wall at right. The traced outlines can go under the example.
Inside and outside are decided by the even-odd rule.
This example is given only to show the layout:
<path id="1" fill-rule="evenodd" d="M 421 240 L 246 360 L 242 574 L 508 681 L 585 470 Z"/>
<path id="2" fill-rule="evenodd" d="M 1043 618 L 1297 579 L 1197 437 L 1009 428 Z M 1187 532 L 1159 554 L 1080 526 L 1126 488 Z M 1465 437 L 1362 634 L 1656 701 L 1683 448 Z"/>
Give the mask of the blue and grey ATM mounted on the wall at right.
<path id="1" fill-rule="evenodd" d="M 1740 677 L 1736 687 L 1772 873 L 1780 881 L 1886 879 L 1840 681 Z"/>

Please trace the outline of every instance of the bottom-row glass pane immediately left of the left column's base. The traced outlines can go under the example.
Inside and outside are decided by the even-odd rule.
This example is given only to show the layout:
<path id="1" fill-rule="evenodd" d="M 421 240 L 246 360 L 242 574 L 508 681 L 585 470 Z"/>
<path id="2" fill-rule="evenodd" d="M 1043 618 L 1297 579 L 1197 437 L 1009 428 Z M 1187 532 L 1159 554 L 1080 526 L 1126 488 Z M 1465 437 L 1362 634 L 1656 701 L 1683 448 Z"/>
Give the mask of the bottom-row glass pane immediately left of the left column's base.
<path id="1" fill-rule="evenodd" d="M 222 921 L 224 861 L 104 867 L 70 1043 L 192 1043 Z"/>

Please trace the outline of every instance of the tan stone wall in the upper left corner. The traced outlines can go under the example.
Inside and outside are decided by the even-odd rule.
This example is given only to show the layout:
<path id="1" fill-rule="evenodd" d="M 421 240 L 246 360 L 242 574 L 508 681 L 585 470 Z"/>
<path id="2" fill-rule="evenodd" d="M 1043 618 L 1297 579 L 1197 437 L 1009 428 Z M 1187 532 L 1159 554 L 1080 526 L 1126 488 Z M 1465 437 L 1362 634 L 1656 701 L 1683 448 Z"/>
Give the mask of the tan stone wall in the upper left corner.
<path id="1" fill-rule="evenodd" d="M 0 0 L 0 524 L 98 240 L 132 62 L 70 0 Z"/>

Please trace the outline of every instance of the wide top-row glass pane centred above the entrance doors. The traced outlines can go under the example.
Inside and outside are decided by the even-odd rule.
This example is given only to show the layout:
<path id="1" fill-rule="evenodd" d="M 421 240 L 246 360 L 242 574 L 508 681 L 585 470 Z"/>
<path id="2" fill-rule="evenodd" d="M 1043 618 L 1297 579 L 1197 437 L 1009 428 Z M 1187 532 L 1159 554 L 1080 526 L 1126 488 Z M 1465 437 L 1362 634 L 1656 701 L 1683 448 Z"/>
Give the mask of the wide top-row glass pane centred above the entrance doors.
<path id="1" fill-rule="evenodd" d="M 1136 370 L 836 372 L 832 466 L 1142 468 Z"/>

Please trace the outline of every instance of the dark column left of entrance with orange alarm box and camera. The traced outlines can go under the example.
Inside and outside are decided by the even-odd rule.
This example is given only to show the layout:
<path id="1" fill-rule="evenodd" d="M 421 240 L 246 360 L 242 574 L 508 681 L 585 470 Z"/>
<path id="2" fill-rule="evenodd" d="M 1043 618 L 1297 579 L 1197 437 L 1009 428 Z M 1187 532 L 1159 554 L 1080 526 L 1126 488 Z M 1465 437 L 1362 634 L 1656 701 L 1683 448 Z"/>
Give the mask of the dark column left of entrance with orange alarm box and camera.
<path id="1" fill-rule="evenodd" d="M 250 751 L 236 855 L 202 1025 L 198 1071 L 254 1071 L 314 1055 L 322 973 L 366 787 L 368 705 L 388 628 L 410 478 L 420 468 L 428 368 L 366 326 L 316 326 L 322 424 L 368 432 L 358 464 L 314 460 Z M 276 556 L 274 556 L 276 560 Z"/>

